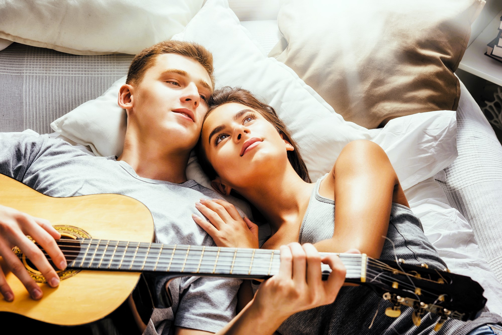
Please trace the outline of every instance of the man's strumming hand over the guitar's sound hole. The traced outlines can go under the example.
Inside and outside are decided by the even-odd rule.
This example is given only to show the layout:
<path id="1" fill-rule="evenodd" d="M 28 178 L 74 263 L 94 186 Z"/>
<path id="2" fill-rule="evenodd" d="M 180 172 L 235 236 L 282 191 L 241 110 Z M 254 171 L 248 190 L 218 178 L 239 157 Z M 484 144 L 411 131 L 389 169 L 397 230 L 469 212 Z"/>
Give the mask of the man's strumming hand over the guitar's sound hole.
<path id="1" fill-rule="evenodd" d="M 21 280 L 31 297 L 40 299 L 42 298 L 42 290 L 30 277 L 12 248 L 18 246 L 45 276 L 50 286 L 59 285 L 59 276 L 47 260 L 47 254 L 44 255 L 44 252 L 26 235 L 32 236 L 45 249 L 49 259 L 59 269 L 66 268 L 66 259 L 55 241 L 61 237 L 61 234 L 54 229 L 49 221 L 0 205 L 0 256 L 4 259 L 9 270 Z M 14 300 L 14 293 L 7 284 L 2 268 L 0 268 L 0 293 L 7 301 Z"/>

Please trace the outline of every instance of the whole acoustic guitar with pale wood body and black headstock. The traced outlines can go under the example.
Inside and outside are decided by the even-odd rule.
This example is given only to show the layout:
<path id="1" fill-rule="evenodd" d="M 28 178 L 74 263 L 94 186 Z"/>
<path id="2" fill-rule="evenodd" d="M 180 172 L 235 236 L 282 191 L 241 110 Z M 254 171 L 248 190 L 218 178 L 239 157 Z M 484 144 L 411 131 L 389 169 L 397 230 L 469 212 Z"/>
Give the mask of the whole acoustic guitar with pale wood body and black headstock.
<path id="1" fill-rule="evenodd" d="M 279 271 L 279 250 L 154 243 L 150 211 L 141 202 L 123 195 L 53 198 L 0 175 L 0 204 L 46 218 L 62 235 L 57 243 L 68 268 L 56 269 L 61 279 L 57 288 L 47 285 L 21 250 L 14 248 L 42 289 L 41 300 L 30 298 L 0 258 L 16 297 L 13 302 L 0 299 L 0 311 L 44 322 L 78 325 L 105 317 L 129 297 L 141 272 L 163 272 L 172 278 L 267 279 Z M 364 254 L 336 255 L 347 269 L 345 281 L 370 285 L 391 303 L 385 312 L 390 317 L 400 315 L 401 305 L 410 306 L 416 325 L 431 312 L 440 316 L 436 325 L 439 329 L 449 317 L 476 318 L 486 303 L 481 286 L 466 276 L 428 269 L 426 264 L 412 266 L 402 260 L 376 260 Z M 323 278 L 327 278 L 329 266 L 323 264 L 321 270 Z"/>

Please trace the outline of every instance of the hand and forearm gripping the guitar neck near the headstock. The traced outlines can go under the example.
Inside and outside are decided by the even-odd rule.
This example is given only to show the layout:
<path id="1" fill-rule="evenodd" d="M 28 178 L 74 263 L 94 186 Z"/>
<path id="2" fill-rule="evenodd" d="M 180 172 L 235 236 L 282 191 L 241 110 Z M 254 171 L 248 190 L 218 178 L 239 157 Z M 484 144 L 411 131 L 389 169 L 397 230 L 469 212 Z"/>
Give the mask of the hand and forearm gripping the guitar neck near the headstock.
<path id="1" fill-rule="evenodd" d="M 326 281 L 321 262 L 332 270 Z M 337 256 L 321 258 L 310 243 L 283 245 L 279 273 L 264 281 L 253 300 L 216 334 L 273 334 L 294 313 L 335 301 L 345 272 Z"/>

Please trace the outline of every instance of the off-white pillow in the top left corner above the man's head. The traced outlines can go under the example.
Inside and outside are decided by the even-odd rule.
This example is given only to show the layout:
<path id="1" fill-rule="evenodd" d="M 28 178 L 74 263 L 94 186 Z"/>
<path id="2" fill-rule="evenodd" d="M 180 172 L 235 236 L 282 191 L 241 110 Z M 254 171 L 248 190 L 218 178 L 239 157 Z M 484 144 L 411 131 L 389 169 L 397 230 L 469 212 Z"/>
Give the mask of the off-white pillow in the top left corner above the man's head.
<path id="1" fill-rule="evenodd" d="M 0 38 L 76 55 L 137 54 L 183 30 L 203 0 L 6 0 Z"/>

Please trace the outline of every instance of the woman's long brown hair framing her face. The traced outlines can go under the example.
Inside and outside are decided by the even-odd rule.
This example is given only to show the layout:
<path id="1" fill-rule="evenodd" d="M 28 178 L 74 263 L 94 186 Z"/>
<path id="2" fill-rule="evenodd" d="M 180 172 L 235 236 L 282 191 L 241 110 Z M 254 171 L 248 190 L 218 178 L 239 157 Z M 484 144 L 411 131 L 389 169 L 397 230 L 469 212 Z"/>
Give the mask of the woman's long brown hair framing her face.
<path id="1" fill-rule="evenodd" d="M 217 107 L 229 103 L 242 104 L 244 106 L 253 108 L 254 110 L 258 111 L 267 121 L 274 125 L 277 131 L 280 134 L 283 134 L 284 139 L 286 139 L 291 143 L 291 145 L 293 145 L 294 150 L 288 151 L 288 160 L 291 163 L 291 166 L 293 166 L 293 169 L 301 179 L 303 179 L 307 183 L 312 183 L 307 171 L 307 166 L 305 165 L 305 162 L 300 155 L 298 145 L 291 137 L 291 134 L 288 131 L 286 125 L 279 119 L 274 108 L 262 103 L 251 92 L 239 87 L 232 88 L 229 86 L 225 86 L 219 90 L 214 91 L 209 101 L 209 109 L 204 117 L 204 121 L 206 120 L 207 116 L 211 114 L 211 112 L 214 111 Z M 195 151 L 197 153 L 197 158 L 202 167 L 202 170 L 206 173 L 210 180 L 216 178 L 218 174 L 207 159 L 204 149 L 202 148 L 201 139 L 199 139 L 199 142 L 195 147 Z"/>

